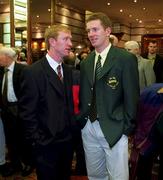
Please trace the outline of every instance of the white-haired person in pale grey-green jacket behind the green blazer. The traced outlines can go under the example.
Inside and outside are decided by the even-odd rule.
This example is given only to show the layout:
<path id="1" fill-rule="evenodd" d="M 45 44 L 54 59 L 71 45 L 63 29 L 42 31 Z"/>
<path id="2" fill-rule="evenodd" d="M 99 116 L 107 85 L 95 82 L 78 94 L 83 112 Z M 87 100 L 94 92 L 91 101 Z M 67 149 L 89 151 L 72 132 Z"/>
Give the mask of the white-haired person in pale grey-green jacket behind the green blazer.
<path id="1" fill-rule="evenodd" d="M 139 71 L 139 86 L 140 90 L 143 90 L 145 87 L 155 83 L 156 77 L 153 71 L 152 64 L 149 60 L 144 59 L 140 56 L 140 46 L 136 41 L 127 41 L 124 44 L 124 48 L 135 54 L 138 61 L 138 71 Z"/>

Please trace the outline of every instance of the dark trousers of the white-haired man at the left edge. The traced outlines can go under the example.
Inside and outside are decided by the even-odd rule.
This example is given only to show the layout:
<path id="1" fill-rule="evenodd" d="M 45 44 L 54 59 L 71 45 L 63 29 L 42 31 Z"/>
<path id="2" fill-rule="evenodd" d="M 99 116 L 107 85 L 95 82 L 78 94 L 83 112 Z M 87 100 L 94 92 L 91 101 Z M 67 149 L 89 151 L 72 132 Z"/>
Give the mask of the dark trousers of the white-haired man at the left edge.
<path id="1" fill-rule="evenodd" d="M 2 110 L 2 120 L 8 149 L 8 158 L 13 168 L 21 170 L 22 165 L 32 165 L 31 147 L 24 138 L 22 121 L 18 118 L 17 107 L 7 107 Z"/>

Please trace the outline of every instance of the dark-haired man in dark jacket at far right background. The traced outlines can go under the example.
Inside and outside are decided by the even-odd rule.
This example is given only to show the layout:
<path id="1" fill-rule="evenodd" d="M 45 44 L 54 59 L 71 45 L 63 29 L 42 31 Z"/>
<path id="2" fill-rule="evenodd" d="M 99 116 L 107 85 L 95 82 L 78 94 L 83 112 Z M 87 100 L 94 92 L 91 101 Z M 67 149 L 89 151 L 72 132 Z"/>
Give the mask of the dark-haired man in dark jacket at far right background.
<path id="1" fill-rule="evenodd" d="M 153 65 L 153 70 L 156 76 L 156 83 L 163 82 L 163 57 L 157 54 L 158 44 L 155 40 L 150 40 L 148 43 L 148 52 L 143 54 L 143 58 L 149 59 Z"/>

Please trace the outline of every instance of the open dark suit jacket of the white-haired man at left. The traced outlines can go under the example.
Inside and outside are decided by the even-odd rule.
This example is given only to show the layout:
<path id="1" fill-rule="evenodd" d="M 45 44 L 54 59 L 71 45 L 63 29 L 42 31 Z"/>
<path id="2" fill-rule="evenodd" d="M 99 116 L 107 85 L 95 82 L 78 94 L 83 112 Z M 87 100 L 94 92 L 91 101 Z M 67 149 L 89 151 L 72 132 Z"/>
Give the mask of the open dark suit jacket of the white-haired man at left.
<path id="1" fill-rule="evenodd" d="M 21 74 L 24 67 L 25 67 L 25 65 L 15 62 L 14 72 L 13 72 L 13 88 L 14 88 L 14 92 L 15 92 L 17 99 L 19 98 L 20 84 L 21 84 L 20 74 Z M 1 89 L 1 92 L 2 92 L 3 75 L 4 75 L 4 68 L 1 67 L 0 68 L 0 89 Z M 2 102 L 2 93 L 0 93 L 0 99 Z M 2 105 L 2 103 L 0 103 L 0 105 Z"/>

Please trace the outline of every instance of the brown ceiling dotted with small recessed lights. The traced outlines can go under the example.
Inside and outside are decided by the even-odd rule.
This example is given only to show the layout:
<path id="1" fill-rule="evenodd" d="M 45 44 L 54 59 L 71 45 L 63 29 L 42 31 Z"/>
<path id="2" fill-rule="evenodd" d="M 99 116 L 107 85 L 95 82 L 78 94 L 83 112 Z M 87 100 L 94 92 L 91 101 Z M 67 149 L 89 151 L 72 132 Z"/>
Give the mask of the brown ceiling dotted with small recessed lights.
<path id="1" fill-rule="evenodd" d="M 57 3 L 93 12 L 104 12 L 112 21 L 138 23 L 148 26 L 163 26 L 163 0 L 56 0 Z M 41 3 L 40 3 L 41 2 Z M 47 17 L 50 0 L 32 0 L 32 16 L 43 13 Z M 110 3 L 110 6 L 107 5 Z M 39 4 L 39 5 L 38 5 Z M 120 12 L 120 9 L 123 12 Z M 46 16 L 45 16 L 46 14 Z M 50 17 L 50 14 L 49 14 Z M 47 18 L 46 21 L 50 19 Z M 41 16 L 40 16 L 41 21 Z M 44 20 L 43 20 L 44 21 Z"/>

